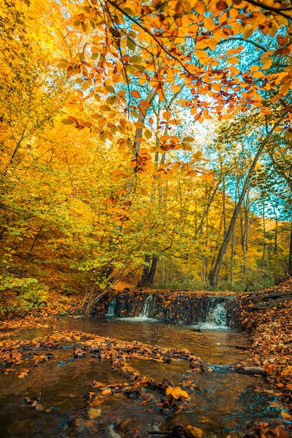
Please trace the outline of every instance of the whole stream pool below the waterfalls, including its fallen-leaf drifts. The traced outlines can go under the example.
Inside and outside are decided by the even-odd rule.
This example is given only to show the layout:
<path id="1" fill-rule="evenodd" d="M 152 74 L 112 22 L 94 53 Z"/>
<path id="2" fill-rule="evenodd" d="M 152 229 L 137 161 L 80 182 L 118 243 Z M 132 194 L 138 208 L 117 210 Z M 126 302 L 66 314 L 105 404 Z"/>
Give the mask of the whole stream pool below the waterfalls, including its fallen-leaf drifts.
<path id="1" fill-rule="evenodd" d="M 6 437 L 289 438 L 277 391 L 235 372 L 246 334 L 136 318 L 47 322 L 0 343 Z"/>

